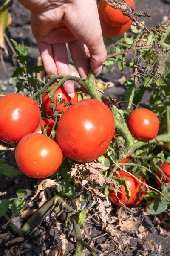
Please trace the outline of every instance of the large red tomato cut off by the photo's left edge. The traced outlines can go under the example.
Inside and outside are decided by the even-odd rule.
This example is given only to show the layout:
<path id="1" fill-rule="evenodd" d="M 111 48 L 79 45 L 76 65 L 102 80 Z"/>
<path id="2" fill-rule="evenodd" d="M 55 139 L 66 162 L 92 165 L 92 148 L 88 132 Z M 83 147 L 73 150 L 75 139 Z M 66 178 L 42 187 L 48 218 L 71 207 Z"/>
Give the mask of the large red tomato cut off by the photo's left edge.
<path id="1" fill-rule="evenodd" d="M 10 94 L 0 99 L 0 140 L 17 143 L 33 133 L 40 123 L 37 103 L 20 94 Z"/>

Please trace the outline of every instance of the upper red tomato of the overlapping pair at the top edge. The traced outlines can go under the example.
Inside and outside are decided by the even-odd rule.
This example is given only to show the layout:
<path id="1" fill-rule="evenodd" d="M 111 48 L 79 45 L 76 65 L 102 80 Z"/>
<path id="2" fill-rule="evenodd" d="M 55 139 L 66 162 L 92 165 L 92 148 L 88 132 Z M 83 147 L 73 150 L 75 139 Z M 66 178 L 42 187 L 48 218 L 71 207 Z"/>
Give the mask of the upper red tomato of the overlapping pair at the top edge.
<path id="1" fill-rule="evenodd" d="M 127 4 L 135 9 L 135 4 L 133 0 L 125 0 Z M 111 26 L 123 26 L 130 21 L 128 16 L 122 14 L 118 9 L 109 6 L 104 0 L 100 0 L 99 9 L 102 14 L 103 19 L 108 25 Z"/>

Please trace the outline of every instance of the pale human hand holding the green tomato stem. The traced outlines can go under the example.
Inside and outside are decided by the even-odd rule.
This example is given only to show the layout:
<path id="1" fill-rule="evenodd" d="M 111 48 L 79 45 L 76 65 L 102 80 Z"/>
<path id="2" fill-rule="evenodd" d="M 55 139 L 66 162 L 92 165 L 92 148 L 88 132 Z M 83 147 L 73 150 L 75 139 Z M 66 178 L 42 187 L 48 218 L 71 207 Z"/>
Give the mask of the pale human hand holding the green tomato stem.
<path id="1" fill-rule="evenodd" d="M 31 11 L 31 27 L 48 75 L 70 75 L 68 53 L 81 78 L 91 69 L 99 75 L 107 52 L 95 0 L 18 0 Z M 65 91 L 74 97 L 74 84 Z"/>

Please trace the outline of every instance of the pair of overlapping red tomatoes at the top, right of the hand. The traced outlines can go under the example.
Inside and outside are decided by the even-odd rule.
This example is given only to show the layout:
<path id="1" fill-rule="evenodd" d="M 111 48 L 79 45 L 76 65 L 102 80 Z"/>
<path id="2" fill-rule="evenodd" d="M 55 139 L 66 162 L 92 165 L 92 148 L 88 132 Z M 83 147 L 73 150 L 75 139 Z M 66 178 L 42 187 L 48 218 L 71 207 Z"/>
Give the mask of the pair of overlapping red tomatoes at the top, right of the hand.
<path id="1" fill-rule="evenodd" d="M 125 0 L 127 4 L 135 8 L 133 0 Z M 132 25 L 132 20 L 122 14 L 118 9 L 109 6 L 104 0 L 98 4 L 99 19 L 103 35 L 108 38 L 116 38 L 123 35 Z"/>

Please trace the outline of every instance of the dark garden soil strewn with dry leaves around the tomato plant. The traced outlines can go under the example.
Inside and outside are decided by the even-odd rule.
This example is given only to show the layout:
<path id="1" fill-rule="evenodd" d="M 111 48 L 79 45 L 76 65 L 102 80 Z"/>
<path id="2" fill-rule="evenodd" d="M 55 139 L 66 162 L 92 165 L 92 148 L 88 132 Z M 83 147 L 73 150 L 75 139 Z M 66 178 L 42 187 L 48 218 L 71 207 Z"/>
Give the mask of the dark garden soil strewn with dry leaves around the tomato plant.
<path id="1" fill-rule="evenodd" d="M 35 39 L 31 33 L 30 13 L 20 6 L 17 1 L 11 1 L 10 13 L 12 23 L 8 27 L 6 35 L 13 38 L 21 45 L 29 47 L 30 65 L 37 64 L 39 57 Z M 0 4 L 3 1 L 0 0 Z M 164 15 L 168 15 L 170 1 L 168 0 L 137 0 L 136 11 L 145 9 L 152 17 L 152 20 L 145 20 L 148 27 L 156 26 L 161 22 Z M 8 47 L 9 56 L 3 55 L 4 64 L 0 62 L 0 93 L 8 94 L 14 91 L 13 81 L 10 79 L 14 71 L 12 51 Z M 130 58 L 130 57 L 129 57 Z M 127 70 L 128 72 L 128 70 Z M 123 74 L 124 75 L 124 74 Z M 125 75 L 127 75 L 125 70 Z M 113 73 L 102 76 L 104 81 L 114 83 L 122 77 L 122 73 L 115 69 Z M 112 87 L 109 93 L 118 98 L 125 88 L 120 84 Z M 144 96 L 143 104 L 147 107 L 149 95 Z M 10 151 L 1 153 L 1 159 L 17 168 L 14 154 Z M 152 183 L 153 180 L 150 181 Z M 25 175 L 19 175 L 13 179 L 0 177 L 0 192 L 7 192 L 0 199 L 16 197 L 19 189 L 26 189 L 26 200 L 35 194 L 36 179 Z M 22 213 L 21 218 L 16 217 L 13 223 L 17 228 L 28 220 L 35 209 L 39 208 L 44 200 L 48 200 L 56 193 L 55 189 L 47 189 L 41 192 L 29 207 Z M 82 205 L 84 203 L 82 202 Z M 90 200 L 87 208 L 92 204 Z M 98 206 L 97 206 L 98 207 Z M 88 220 L 82 226 L 82 237 L 90 244 L 99 256 L 170 256 L 170 215 L 168 211 L 161 215 L 149 215 L 147 205 L 144 202 L 137 209 L 136 214 L 131 214 L 123 207 L 108 206 L 106 211 L 110 215 L 109 224 L 101 223 L 97 214 L 96 205 L 88 211 Z M 30 210 L 31 209 L 31 212 Z M 35 227 L 30 235 L 20 238 L 8 225 L 6 229 L 2 226 L 6 223 L 5 218 L 0 218 L 0 256 L 73 256 L 75 254 L 75 233 L 71 223 L 65 227 L 66 213 L 64 211 L 54 214 L 50 212 L 44 221 Z M 90 255 L 87 250 L 84 256 Z"/>

